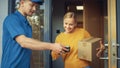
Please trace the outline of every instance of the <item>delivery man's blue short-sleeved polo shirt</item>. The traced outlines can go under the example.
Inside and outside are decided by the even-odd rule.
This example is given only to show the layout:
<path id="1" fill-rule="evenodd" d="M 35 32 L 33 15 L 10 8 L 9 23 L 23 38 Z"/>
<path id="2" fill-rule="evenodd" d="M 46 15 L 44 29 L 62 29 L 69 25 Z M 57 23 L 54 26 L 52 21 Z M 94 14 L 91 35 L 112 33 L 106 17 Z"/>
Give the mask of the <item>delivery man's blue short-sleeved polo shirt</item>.
<path id="1" fill-rule="evenodd" d="M 19 11 L 6 17 L 3 23 L 1 68 L 30 68 L 31 50 L 15 40 L 19 35 L 32 37 L 32 28 Z"/>

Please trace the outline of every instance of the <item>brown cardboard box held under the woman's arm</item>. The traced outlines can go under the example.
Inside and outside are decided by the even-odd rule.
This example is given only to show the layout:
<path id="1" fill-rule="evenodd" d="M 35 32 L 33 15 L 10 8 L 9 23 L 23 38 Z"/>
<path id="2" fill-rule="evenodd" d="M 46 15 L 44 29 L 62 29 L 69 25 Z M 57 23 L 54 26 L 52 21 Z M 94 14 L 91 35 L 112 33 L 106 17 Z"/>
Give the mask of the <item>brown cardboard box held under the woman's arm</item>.
<path id="1" fill-rule="evenodd" d="M 78 43 L 78 57 L 83 60 L 96 62 L 99 58 L 96 56 L 96 48 L 100 47 L 101 38 L 87 38 Z"/>

